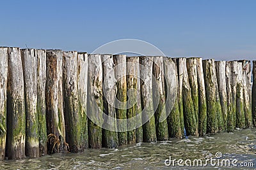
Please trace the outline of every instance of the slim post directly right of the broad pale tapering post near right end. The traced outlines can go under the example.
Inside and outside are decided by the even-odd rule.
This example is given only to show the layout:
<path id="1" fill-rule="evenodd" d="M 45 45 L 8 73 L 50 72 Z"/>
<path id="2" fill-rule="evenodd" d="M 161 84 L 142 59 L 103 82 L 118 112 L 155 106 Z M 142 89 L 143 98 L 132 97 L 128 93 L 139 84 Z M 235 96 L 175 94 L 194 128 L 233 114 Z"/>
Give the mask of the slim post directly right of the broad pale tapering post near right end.
<path id="1" fill-rule="evenodd" d="M 225 78 L 226 78 L 226 89 L 227 89 L 227 131 L 232 131 L 236 124 L 234 124 L 234 114 L 233 114 L 233 97 L 232 97 L 232 71 L 231 71 L 231 62 L 227 61 L 225 66 Z"/>

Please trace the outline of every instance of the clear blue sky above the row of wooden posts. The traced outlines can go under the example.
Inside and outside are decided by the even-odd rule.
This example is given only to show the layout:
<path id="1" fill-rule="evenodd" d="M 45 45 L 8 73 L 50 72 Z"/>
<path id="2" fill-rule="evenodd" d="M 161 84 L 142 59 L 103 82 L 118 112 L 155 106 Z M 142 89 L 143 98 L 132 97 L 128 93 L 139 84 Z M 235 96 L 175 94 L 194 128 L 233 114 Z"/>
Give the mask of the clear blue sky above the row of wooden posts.
<path id="1" fill-rule="evenodd" d="M 1 1 L 0 46 L 93 52 L 134 38 L 170 57 L 256 60 L 256 1 Z"/>

